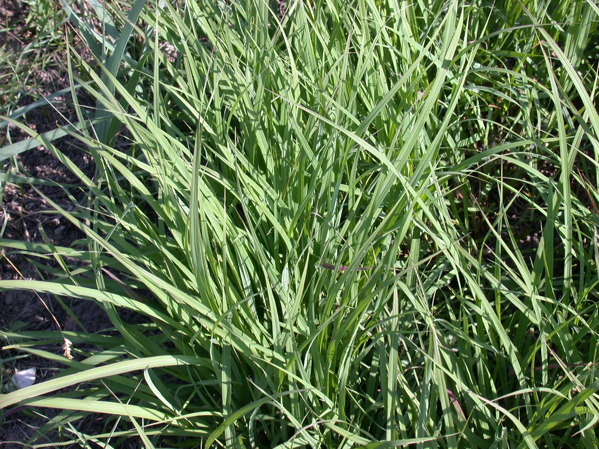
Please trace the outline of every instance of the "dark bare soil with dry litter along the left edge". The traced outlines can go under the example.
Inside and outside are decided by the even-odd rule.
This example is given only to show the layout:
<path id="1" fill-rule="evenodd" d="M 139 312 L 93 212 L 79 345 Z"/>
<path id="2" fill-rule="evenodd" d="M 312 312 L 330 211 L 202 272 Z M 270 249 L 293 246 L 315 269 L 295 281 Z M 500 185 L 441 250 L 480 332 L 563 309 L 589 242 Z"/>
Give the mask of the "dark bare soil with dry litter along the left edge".
<path id="1" fill-rule="evenodd" d="M 0 115 L 5 115 L 16 107 L 29 104 L 42 96 L 52 94 L 68 87 L 68 76 L 64 61 L 65 54 L 59 47 L 38 48 L 23 56 L 23 48 L 32 43 L 37 30 L 25 21 L 28 6 L 20 0 L 0 0 L 0 55 L 8 58 L 13 67 L 0 65 Z M 44 51 L 51 51 L 44 55 Z M 29 65 L 30 72 L 26 77 L 16 75 L 19 56 L 23 56 L 20 64 Z M 8 87 L 8 88 L 7 88 Z M 90 98 L 78 97 L 80 104 L 92 106 Z M 16 105 L 15 105 L 16 102 Z M 11 110 L 7 107 L 11 105 Z M 55 98 L 53 107 L 50 105 L 35 108 L 19 119 L 29 128 L 42 133 L 55 129 L 57 125 L 65 125 L 76 120 L 71 108 L 70 95 Z M 29 138 L 24 132 L 13 125 L 0 128 L 0 147 Z M 63 154 L 72 160 L 88 177 L 93 177 L 95 166 L 89 153 L 77 145 L 72 138 L 62 138 L 53 142 Z M 77 186 L 77 178 L 60 163 L 50 151 L 38 146 L 18 156 L 1 161 L 0 172 L 21 173 L 29 177 L 55 181 L 56 183 Z M 72 201 L 65 190 L 59 186 L 38 185 L 44 195 L 58 203 L 60 207 L 71 210 Z M 77 201 L 83 201 L 86 195 L 80 187 L 72 187 L 67 191 Z M 56 213 L 47 202 L 29 184 L 0 183 L 0 238 L 14 241 L 44 243 L 40 227 L 47 238 L 56 246 L 69 247 L 84 235 L 71 223 Z M 32 262 L 38 262 L 36 267 Z M 65 259 L 69 265 L 77 265 L 74 260 Z M 44 271 L 44 266 L 59 269 L 58 263 L 52 258 L 23 256 L 7 247 L 0 247 L 0 279 L 41 280 L 52 276 Z M 62 298 L 66 305 L 80 320 L 88 332 L 98 332 L 112 327 L 107 314 L 101 307 L 91 301 L 76 298 Z M 69 317 L 62 305 L 52 295 L 36 295 L 21 290 L 0 292 L 0 330 L 57 330 L 57 322 L 62 330 L 81 330 L 75 321 Z M 55 321 L 56 320 L 56 321 Z M 0 337 L 0 345 L 10 342 Z M 39 347 L 46 351 L 62 354 L 62 345 L 44 345 Z M 84 348 L 83 348 L 84 349 Z M 75 360 L 78 354 L 74 353 Z M 16 371 L 37 368 L 36 382 L 40 383 L 52 377 L 59 363 L 50 362 L 42 357 L 33 356 L 16 349 L 0 350 L 0 388 Z M 47 423 L 49 417 L 58 414 L 58 410 L 31 408 L 14 408 L 0 411 L 0 448 L 13 449 L 24 447 L 18 442 L 26 442 L 40 426 Z M 40 415 L 40 413 L 42 413 Z M 88 415 L 76 421 L 75 426 L 84 433 L 97 429 L 102 431 L 102 417 Z M 49 433 L 38 443 L 63 441 L 56 432 Z M 58 446 L 56 446 L 58 447 Z M 79 447 L 79 445 L 60 446 Z"/>

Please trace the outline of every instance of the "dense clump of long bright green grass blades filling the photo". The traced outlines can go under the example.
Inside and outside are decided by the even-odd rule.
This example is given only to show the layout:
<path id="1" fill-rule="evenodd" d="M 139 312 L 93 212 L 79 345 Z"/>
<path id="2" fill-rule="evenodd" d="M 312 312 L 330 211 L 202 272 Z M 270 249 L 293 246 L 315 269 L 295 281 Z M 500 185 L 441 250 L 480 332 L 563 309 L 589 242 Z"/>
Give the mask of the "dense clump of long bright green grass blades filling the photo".
<path id="1" fill-rule="evenodd" d="M 59 131 L 95 176 L 38 139 L 86 238 L 0 241 L 58 263 L 0 287 L 116 332 L 53 334 L 75 359 L 35 350 L 66 368 L 1 407 L 62 409 L 42 430 L 81 445 L 597 445 L 594 4 L 66 9 L 102 65 L 69 50 L 97 108 Z"/>

